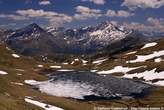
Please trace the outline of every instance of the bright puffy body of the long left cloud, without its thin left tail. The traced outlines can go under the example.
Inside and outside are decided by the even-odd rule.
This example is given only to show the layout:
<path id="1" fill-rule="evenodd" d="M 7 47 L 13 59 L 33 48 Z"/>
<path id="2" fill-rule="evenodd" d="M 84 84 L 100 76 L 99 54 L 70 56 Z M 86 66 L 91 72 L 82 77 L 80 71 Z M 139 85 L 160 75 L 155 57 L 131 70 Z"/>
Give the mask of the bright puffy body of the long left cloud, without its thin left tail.
<path id="1" fill-rule="evenodd" d="M 62 13 L 56 13 L 53 11 L 44 10 L 17 10 L 17 14 L 27 17 L 27 18 L 43 18 L 48 20 L 49 24 L 52 26 L 60 26 L 65 22 L 71 22 L 72 17 Z"/>

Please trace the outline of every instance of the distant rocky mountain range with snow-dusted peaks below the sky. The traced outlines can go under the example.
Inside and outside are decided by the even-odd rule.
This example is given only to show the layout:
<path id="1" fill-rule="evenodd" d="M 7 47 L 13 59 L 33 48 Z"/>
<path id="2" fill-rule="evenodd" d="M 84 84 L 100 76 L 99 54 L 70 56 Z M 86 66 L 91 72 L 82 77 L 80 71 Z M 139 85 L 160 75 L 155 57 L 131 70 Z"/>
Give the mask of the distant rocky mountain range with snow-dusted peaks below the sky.
<path id="1" fill-rule="evenodd" d="M 16 52 L 37 57 L 113 54 L 135 48 L 148 40 L 137 31 L 110 22 L 77 29 L 43 29 L 33 23 L 18 30 L 1 30 L 0 36 L 0 40 Z"/>

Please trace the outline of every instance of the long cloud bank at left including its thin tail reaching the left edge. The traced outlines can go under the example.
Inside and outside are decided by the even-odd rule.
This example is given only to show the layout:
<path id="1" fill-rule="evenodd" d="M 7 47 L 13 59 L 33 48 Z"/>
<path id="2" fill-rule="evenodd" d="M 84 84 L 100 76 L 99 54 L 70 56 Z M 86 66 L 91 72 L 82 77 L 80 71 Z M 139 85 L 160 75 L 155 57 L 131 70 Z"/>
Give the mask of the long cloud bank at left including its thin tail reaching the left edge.
<path id="1" fill-rule="evenodd" d="M 58 27 L 63 23 L 71 22 L 72 17 L 63 13 L 57 13 L 53 11 L 44 11 L 27 9 L 17 10 L 14 14 L 0 14 L 0 18 L 10 20 L 31 20 L 31 19 L 43 19 L 54 27 Z"/>

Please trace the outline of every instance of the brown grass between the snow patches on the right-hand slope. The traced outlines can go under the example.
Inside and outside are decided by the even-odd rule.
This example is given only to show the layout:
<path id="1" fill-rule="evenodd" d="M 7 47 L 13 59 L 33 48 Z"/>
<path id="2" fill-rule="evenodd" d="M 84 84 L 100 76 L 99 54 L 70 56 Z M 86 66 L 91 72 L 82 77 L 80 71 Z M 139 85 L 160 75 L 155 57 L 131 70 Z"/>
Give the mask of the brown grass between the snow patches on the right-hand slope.
<path id="1" fill-rule="evenodd" d="M 147 66 L 146 68 L 140 68 L 135 71 L 130 71 L 129 74 L 135 73 L 135 72 L 143 72 L 145 70 L 152 70 L 154 68 L 157 68 L 157 71 L 164 71 L 164 62 L 156 63 L 154 62 L 154 59 L 147 60 L 145 62 L 137 62 L 137 63 L 126 63 L 126 61 L 134 60 L 136 59 L 136 55 L 149 55 L 153 53 L 154 51 L 160 51 L 164 50 L 164 40 L 158 41 L 158 44 L 153 47 L 145 48 L 145 49 L 136 49 L 129 52 L 137 51 L 136 53 L 129 54 L 129 52 L 125 52 L 122 54 L 118 54 L 113 56 L 113 58 L 110 58 L 108 61 L 103 62 L 101 65 L 96 66 L 98 70 L 110 70 L 113 69 L 115 66 L 124 66 L 124 67 L 139 67 L 139 66 Z M 158 57 L 157 57 L 158 58 Z M 164 58 L 164 56 L 159 57 Z"/>

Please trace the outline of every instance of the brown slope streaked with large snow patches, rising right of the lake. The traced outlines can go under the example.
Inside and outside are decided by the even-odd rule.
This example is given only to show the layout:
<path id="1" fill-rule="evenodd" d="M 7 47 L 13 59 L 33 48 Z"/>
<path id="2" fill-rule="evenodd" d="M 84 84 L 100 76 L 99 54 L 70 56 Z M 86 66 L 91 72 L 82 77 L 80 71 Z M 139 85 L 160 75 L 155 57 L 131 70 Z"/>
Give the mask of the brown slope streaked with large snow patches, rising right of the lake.
<path id="1" fill-rule="evenodd" d="M 164 40 L 157 40 L 145 44 L 143 47 L 134 49 L 128 53 L 118 54 L 109 62 L 100 64 L 101 74 L 113 74 L 142 80 L 147 83 L 164 85 L 163 82 L 163 58 Z M 111 66 L 105 66 L 111 65 Z M 117 70 L 117 71 L 116 71 Z M 124 72 L 124 70 L 126 70 Z M 115 72 L 114 72 L 115 71 Z"/>

